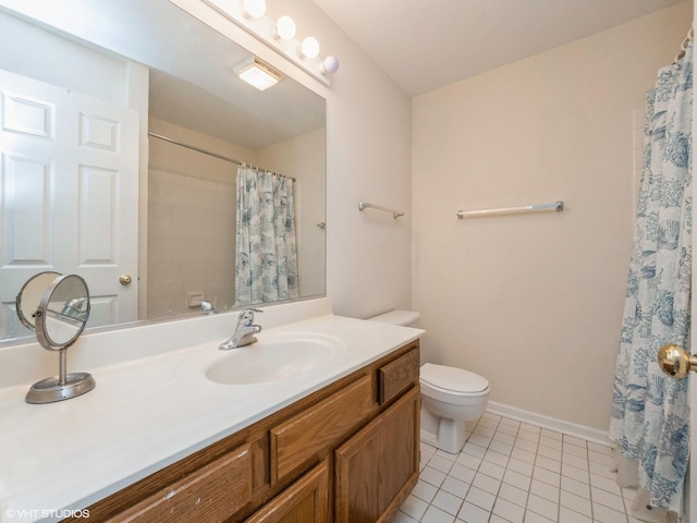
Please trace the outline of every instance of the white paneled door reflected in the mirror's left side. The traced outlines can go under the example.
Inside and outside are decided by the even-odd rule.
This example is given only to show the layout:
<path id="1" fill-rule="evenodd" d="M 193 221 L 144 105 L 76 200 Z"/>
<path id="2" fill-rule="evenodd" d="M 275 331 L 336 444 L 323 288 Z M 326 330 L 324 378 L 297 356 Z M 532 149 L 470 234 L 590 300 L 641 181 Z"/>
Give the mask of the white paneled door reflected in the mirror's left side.
<path id="1" fill-rule="evenodd" d="M 42 270 L 85 279 L 88 326 L 137 319 L 137 111 L 0 70 L 3 319 Z"/>

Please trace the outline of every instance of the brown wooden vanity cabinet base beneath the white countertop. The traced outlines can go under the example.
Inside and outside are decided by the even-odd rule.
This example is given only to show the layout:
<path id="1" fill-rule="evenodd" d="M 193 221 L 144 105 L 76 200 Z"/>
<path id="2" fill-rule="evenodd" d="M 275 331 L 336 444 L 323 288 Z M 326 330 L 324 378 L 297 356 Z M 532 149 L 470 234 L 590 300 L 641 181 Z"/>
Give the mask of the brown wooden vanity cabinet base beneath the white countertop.
<path id="1" fill-rule="evenodd" d="M 387 521 L 418 481 L 418 340 L 398 349 L 88 507 L 90 520 Z"/>

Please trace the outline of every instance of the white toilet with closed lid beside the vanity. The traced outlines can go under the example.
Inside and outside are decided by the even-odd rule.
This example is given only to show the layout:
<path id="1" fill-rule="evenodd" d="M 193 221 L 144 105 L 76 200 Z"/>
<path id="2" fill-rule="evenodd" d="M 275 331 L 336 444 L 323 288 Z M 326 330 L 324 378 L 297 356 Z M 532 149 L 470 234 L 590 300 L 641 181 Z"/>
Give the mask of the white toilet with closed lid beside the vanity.
<path id="1" fill-rule="evenodd" d="M 419 313 L 391 311 L 372 318 L 409 326 Z M 421 441 L 450 453 L 462 450 L 467 438 L 465 422 L 477 419 L 487 409 L 489 381 L 464 368 L 425 363 L 420 369 Z"/>

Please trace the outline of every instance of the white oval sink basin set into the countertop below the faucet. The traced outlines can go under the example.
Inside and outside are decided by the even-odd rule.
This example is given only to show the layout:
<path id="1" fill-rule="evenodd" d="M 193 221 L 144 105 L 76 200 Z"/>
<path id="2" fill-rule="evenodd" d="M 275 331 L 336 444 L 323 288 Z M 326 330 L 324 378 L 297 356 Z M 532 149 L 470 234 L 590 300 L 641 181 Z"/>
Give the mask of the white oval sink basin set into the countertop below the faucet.
<path id="1" fill-rule="evenodd" d="M 322 365 L 343 343 L 314 333 L 257 336 L 247 346 L 231 349 L 208 366 L 206 377 L 224 385 L 248 385 L 277 381 L 307 373 Z"/>

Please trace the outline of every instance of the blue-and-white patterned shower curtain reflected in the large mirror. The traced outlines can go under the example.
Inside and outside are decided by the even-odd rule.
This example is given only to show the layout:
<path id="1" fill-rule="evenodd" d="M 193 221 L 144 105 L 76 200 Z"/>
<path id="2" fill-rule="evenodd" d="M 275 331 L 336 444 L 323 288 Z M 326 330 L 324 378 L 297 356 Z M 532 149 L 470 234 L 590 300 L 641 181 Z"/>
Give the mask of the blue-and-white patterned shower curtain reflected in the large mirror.
<path id="1" fill-rule="evenodd" d="M 237 169 L 235 305 L 297 297 L 294 182 Z"/>

